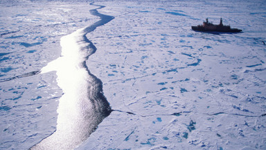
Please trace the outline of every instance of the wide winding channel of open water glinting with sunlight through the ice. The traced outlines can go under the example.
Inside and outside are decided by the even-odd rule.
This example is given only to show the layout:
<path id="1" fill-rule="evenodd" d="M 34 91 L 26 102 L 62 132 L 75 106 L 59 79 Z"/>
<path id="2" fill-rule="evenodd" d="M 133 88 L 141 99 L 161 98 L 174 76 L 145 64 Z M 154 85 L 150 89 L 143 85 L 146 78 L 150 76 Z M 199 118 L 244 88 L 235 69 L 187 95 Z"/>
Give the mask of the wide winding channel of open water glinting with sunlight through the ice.
<path id="1" fill-rule="evenodd" d="M 87 33 L 114 19 L 97 11 L 103 7 L 89 11 L 100 17 L 98 22 L 62 37 L 62 56 L 42 68 L 41 74 L 56 71 L 57 83 L 64 94 L 57 108 L 56 131 L 30 149 L 74 149 L 112 112 L 103 95 L 102 82 L 86 65 L 86 60 L 96 51 Z"/>

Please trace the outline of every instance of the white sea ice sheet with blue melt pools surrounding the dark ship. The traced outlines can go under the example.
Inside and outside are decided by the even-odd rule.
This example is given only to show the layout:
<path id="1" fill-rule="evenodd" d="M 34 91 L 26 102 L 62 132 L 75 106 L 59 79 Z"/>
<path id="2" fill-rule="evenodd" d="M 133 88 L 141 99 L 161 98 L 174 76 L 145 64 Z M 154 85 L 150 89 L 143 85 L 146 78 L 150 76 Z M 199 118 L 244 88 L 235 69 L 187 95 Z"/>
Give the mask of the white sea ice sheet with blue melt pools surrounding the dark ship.
<path id="1" fill-rule="evenodd" d="M 56 130 L 60 38 L 99 20 L 91 1 L 0 2 L 0 149 Z M 114 110 L 76 149 L 266 149 L 266 2 L 95 1 L 87 67 Z M 242 33 L 192 31 L 208 17 Z M 67 76 L 67 75 L 66 75 Z"/>

